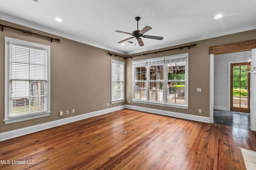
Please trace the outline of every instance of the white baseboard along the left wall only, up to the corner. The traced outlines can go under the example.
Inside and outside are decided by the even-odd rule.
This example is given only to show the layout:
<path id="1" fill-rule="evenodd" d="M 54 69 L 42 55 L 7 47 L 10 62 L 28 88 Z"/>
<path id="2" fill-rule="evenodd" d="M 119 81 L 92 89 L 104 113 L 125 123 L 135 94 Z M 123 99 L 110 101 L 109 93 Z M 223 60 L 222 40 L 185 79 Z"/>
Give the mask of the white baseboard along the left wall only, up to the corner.
<path id="1" fill-rule="evenodd" d="M 50 121 L 50 122 L 47 122 L 47 123 L 42 123 L 42 124 L 38 124 L 38 125 L 34 125 L 34 126 L 29 126 L 29 127 L 24 127 L 24 128 L 21 128 L 21 129 L 16 129 L 16 130 L 13 130 L 13 131 L 0 133 L 0 141 L 4 141 L 4 140 L 7 140 L 7 139 L 12 139 L 14 137 L 19 137 L 19 136 L 22 136 L 22 135 L 27 135 L 29 133 L 34 133 L 34 132 L 37 132 L 37 131 L 42 131 L 44 129 L 49 129 L 49 128 L 52 128 L 52 127 L 64 125 L 64 124 L 71 123 L 71 122 L 74 122 L 74 121 L 79 121 L 79 120 L 86 119 L 86 118 L 89 118 L 89 117 L 103 115 L 103 114 L 109 113 L 111 111 L 124 109 L 125 107 L 126 107 L 125 105 L 118 106 L 118 107 L 112 107 L 110 109 L 94 111 L 94 112 L 91 112 L 91 113 L 85 113 L 85 114 L 82 114 L 82 115 L 72 116 L 72 117 L 68 117 L 68 118 L 65 118 L 65 119 Z"/>

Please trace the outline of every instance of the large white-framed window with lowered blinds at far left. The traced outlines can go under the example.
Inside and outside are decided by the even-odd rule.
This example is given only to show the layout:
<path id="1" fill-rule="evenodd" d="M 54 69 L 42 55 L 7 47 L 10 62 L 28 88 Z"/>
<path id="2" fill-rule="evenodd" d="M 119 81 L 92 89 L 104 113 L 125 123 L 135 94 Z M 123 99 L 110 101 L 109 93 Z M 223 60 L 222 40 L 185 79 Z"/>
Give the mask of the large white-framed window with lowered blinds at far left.
<path id="1" fill-rule="evenodd" d="M 5 37 L 5 123 L 50 115 L 50 46 Z"/>

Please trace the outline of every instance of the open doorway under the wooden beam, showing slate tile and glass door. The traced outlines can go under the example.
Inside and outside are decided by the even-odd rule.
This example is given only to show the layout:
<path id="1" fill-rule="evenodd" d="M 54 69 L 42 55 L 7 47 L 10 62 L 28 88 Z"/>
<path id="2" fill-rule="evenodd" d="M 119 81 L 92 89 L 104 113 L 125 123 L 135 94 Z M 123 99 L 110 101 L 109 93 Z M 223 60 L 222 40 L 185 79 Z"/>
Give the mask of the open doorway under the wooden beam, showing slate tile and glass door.
<path id="1" fill-rule="evenodd" d="M 246 112 L 244 108 L 250 108 L 250 105 L 247 106 L 247 103 L 250 104 L 247 90 L 250 91 L 248 61 L 251 57 L 251 51 L 212 55 L 214 66 L 214 74 L 212 74 L 214 78 L 212 82 L 214 85 L 212 87 L 214 88 L 213 123 L 250 129 L 250 110 Z M 234 103 L 232 105 L 230 101 L 233 100 L 235 100 L 235 104 L 239 105 L 234 105 Z M 235 107 L 239 107 L 239 109 L 242 107 L 243 109 L 235 110 Z"/>

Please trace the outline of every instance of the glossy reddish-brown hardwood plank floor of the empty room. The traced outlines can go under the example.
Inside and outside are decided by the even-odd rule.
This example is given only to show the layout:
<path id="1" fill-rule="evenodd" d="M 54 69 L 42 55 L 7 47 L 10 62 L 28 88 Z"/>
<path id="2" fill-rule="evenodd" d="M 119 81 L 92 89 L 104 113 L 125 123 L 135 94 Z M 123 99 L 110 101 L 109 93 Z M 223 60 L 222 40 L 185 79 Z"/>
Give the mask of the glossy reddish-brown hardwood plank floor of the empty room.
<path id="1" fill-rule="evenodd" d="M 256 132 L 122 109 L 2 141 L 0 169 L 245 170 L 241 148 Z"/>

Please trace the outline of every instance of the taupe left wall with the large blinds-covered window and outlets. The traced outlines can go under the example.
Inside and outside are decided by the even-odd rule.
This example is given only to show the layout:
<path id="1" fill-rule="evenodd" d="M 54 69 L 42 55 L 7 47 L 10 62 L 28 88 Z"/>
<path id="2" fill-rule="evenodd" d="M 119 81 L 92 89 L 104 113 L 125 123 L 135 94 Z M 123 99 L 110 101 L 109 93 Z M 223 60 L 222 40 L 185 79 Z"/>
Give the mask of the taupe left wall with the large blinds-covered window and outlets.
<path id="1" fill-rule="evenodd" d="M 110 57 L 109 51 L 83 43 L 50 35 L 38 30 L 0 20 L 0 24 L 26 29 L 60 39 L 59 43 L 26 35 L 13 29 L 0 31 L 0 133 L 28 127 L 48 121 L 64 119 L 74 115 L 90 113 L 125 103 L 111 104 L 111 59 L 124 61 L 121 57 Z M 48 117 L 5 124 L 4 121 L 4 37 L 31 41 L 51 47 L 51 114 Z M 107 103 L 110 106 L 107 106 Z M 75 113 L 71 113 L 75 109 Z M 66 115 L 66 110 L 69 114 Z M 63 116 L 60 116 L 63 111 Z"/>

